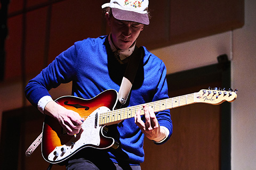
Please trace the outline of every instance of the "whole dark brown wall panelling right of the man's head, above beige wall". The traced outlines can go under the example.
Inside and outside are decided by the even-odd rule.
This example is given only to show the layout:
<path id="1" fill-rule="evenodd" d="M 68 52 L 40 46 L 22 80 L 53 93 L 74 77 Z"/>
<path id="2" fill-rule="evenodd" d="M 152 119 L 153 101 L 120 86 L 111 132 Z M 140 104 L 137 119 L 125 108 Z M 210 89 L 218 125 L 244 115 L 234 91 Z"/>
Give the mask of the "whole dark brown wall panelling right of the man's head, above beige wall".
<path id="1" fill-rule="evenodd" d="M 244 0 L 150 1 L 154 9 L 138 44 L 148 49 L 169 46 L 241 28 Z"/>

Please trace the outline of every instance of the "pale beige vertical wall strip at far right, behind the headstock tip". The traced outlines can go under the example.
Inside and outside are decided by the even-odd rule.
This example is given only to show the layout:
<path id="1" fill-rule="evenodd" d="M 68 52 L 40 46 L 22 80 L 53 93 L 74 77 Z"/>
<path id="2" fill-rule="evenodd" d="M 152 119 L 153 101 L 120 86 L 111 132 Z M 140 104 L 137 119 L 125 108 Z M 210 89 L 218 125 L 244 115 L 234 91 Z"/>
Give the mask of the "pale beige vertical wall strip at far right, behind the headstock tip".
<path id="1" fill-rule="evenodd" d="M 245 25 L 234 31 L 232 84 L 239 99 L 232 107 L 233 169 L 256 167 L 256 1 L 245 1 Z"/>

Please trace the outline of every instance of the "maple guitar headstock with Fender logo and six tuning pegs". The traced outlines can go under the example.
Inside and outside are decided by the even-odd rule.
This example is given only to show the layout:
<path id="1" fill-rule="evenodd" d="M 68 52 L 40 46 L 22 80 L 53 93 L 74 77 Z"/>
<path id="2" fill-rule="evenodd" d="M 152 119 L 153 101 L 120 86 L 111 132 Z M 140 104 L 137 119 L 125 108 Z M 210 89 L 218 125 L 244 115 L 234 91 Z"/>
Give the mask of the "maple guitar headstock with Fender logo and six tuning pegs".
<path id="1" fill-rule="evenodd" d="M 196 93 L 195 101 L 197 103 L 207 103 L 212 105 L 219 105 L 224 101 L 233 102 L 237 97 L 237 89 L 228 91 L 224 89 L 202 89 Z"/>

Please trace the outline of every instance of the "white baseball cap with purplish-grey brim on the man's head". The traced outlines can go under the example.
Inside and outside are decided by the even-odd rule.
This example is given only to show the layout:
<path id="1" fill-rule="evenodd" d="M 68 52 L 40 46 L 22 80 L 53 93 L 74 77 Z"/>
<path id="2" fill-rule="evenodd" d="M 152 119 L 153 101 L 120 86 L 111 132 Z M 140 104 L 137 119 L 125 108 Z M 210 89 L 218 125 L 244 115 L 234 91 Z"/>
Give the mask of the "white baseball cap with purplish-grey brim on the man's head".
<path id="1" fill-rule="evenodd" d="M 112 14 L 117 20 L 148 25 L 148 3 L 148 0 L 111 0 L 101 7 L 111 7 Z"/>

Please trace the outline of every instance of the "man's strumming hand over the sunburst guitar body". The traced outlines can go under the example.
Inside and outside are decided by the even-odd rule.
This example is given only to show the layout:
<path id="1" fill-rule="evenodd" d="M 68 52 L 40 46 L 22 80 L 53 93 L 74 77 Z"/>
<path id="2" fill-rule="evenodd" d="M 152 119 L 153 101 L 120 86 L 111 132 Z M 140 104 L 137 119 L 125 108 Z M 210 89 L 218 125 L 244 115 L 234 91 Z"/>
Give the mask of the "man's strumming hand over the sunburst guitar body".
<path id="1" fill-rule="evenodd" d="M 78 134 L 85 120 L 78 113 L 66 109 L 55 101 L 46 104 L 44 114 L 56 118 L 68 135 Z"/>

